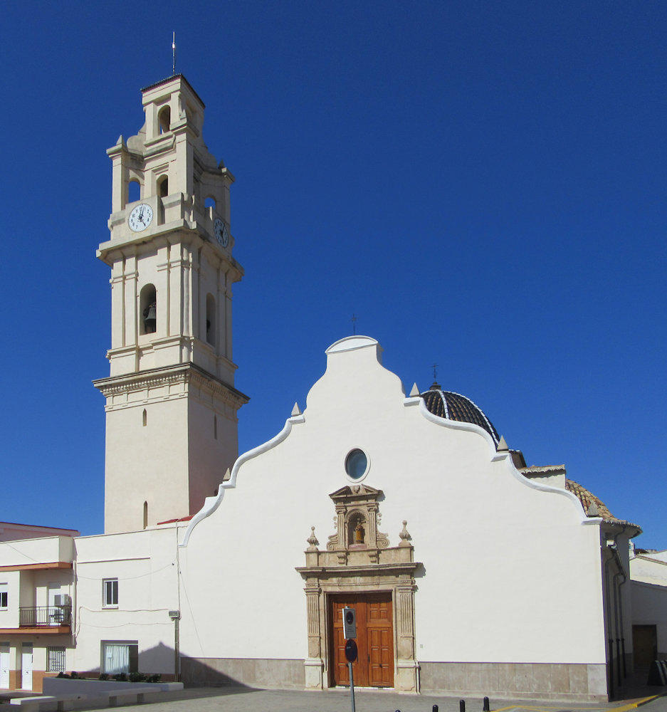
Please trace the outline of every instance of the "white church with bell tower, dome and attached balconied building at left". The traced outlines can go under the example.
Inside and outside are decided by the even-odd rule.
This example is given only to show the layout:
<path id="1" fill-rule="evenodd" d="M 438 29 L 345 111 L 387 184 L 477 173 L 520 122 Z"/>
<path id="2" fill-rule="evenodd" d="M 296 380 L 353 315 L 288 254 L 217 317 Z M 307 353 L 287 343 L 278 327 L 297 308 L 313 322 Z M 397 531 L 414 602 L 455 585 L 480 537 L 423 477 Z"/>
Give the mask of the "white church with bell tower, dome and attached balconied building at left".
<path id="1" fill-rule="evenodd" d="M 108 151 L 98 251 L 112 288 L 110 375 L 95 382 L 105 533 L 0 538 L 0 689 L 73 670 L 346 686 L 349 606 L 359 686 L 613 695 L 633 666 L 639 527 L 563 466 L 527 467 L 470 399 L 404 388 L 377 341 L 347 337 L 303 408 L 237 456 L 233 176 L 182 75 L 142 98 L 144 127 Z"/>

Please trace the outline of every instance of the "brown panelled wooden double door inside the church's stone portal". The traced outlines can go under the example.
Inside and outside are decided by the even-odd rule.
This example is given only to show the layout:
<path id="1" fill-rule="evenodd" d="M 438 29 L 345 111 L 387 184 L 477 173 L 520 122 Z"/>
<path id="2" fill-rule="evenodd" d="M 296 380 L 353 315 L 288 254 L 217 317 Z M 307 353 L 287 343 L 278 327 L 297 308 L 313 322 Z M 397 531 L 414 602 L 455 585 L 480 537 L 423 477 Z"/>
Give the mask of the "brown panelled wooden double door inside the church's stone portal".
<path id="1" fill-rule="evenodd" d="M 352 664 L 354 686 L 394 686 L 394 617 L 392 594 L 337 594 L 329 599 L 329 620 L 332 625 L 330 661 L 332 685 L 350 685 L 345 659 L 342 609 L 354 608 L 357 613 L 357 649 L 359 656 Z"/>

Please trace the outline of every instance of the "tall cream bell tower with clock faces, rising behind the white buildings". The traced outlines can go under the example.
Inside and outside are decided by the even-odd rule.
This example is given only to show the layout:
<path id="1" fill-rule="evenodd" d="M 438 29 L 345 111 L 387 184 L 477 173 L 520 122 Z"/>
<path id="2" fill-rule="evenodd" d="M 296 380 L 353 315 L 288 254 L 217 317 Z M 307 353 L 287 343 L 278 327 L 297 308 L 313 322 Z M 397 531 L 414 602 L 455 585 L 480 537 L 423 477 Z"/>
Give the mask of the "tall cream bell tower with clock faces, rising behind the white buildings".
<path id="1" fill-rule="evenodd" d="M 238 454 L 229 188 L 183 75 L 142 89 L 145 124 L 112 161 L 105 533 L 194 514 Z M 133 185 L 134 184 L 134 185 Z M 132 194 L 133 192 L 133 194 Z M 132 197 L 132 201 L 130 201 Z"/>

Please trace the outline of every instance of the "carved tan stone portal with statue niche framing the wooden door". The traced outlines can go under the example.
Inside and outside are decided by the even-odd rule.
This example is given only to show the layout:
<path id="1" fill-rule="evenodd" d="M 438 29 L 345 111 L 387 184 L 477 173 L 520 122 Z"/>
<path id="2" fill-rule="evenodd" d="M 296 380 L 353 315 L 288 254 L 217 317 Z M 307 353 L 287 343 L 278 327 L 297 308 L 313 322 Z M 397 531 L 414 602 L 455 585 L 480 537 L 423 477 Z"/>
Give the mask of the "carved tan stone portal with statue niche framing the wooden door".
<path id="1" fill-rule="evenodd" d="M 394 689 L 418 690 L 414 642 L 414 548 L 403 523 L 401 542 L 389 547 L 389 538 L 377 529 L 382 491 L 363 484 L 346 486 L 330 494 L 335 504 L 336 533 L 320 551 L 311 528 L 306 565 L 297 571 L 305 580 L 308 614 L 307 689 L 331 684 L 328 597 L 339 593 L 392 593 L 394 610 Z"/>

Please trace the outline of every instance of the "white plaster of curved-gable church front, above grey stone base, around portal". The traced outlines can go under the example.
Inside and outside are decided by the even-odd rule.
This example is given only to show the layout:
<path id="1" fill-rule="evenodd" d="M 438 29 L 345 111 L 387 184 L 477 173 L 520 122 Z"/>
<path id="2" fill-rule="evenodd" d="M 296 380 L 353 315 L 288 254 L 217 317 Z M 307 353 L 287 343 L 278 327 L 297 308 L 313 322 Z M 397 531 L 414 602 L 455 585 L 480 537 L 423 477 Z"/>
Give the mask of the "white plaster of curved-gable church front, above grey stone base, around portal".
<path id="1" fill-rule="evenodd" d="M 419 399 L 406 401 L 371 340 L 337 349 L 303 422 L 241 456 L 216 511 L 191 527 L 183 653 L 307 656 L 295 567 L 311 525 L 320 548 L 334 533 L 328 495 L 350 483 L 345 456 L 359 447 L 371 461 L 364 483 L 384 492 L 379 529 L 395 546 L 406 519 L 424 564 L 419 659 L 604 663 L 599 520 L 569 493 L 522 478 L 480 429 L 434 422 Z"/>

